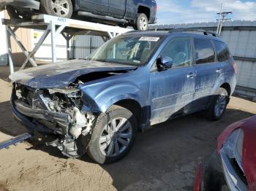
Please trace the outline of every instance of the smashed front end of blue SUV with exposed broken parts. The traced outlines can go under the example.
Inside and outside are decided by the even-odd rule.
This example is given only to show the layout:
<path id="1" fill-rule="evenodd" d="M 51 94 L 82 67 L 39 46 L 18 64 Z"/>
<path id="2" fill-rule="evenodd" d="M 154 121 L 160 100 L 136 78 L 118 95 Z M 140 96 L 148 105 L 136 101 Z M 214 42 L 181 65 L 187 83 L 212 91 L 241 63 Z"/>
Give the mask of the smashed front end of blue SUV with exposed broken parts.
<path id="1" fill-rule="evenodd" d="M 80 136 L 89 136 L 95 119 L 95 114 L 81 111 L 82 92 L 77 87 L 71 84 L 60 89 L 34 89 L 13 84 L 12 110 L 15 116 L 22 114 L 40 127 L 38 131 L 58 135 L 58 139 L 47 145 L 58 147 L 67 157 L 80 156 L 77 140 Z"/>

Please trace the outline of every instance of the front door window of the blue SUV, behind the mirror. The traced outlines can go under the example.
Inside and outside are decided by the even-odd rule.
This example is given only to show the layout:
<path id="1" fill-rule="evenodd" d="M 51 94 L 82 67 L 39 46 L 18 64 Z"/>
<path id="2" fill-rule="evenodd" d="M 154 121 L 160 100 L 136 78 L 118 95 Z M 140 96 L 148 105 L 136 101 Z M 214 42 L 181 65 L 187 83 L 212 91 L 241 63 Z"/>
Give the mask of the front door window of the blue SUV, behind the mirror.
<path id="1" fill-rule="evenodd" d="M 189 66 L 192 64 L 191 41 L 187 38 L 173 39 L 162 49 L 160 56 L 173 59 L 173 67 Z"/>

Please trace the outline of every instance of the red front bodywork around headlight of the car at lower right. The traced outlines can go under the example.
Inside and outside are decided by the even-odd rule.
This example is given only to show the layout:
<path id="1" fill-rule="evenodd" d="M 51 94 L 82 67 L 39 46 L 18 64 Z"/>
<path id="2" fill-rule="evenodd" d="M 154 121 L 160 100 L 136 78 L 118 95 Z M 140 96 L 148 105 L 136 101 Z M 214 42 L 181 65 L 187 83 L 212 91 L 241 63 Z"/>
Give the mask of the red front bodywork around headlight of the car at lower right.
<path id="1" fill-rule="evenodd" d="M 228 126 L 218 138 L 218 152 L 230 134 L 241 128 L 244 132 L 242 165 L 249 190 L 256 190 L 256 115 Z"/>

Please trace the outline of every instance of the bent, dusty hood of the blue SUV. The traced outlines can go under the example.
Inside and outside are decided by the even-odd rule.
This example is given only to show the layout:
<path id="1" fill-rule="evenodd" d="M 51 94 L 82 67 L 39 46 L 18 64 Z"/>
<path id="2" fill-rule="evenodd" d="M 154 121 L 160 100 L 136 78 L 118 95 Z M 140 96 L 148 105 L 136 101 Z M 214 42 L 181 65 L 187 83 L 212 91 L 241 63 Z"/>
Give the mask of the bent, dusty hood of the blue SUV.
<path id="1" fill-rule="evenodd" d="M 118 63 L 73 60 L 50 63 L 26 70 L 16 71 L 10 75 L 12 82 L 18 82 L 33 88 L 66 87 L 81 75 L 97 71 L 129 71 L 137 67 Z"/>

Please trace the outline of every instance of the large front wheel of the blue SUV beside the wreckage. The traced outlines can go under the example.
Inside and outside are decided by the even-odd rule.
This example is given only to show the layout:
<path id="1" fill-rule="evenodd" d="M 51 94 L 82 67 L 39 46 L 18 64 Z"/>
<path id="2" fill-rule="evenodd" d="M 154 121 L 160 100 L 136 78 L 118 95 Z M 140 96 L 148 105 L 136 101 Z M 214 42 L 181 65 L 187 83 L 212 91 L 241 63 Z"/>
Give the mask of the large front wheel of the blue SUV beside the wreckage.
<path id="1" fill-rule="evenodd" d="M 127 155 L 137 131 L 132 112 L 121 106 L 111 106 L 97 118 L 87 152 L 97 163 L 114 163 Z"/>

